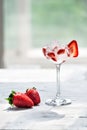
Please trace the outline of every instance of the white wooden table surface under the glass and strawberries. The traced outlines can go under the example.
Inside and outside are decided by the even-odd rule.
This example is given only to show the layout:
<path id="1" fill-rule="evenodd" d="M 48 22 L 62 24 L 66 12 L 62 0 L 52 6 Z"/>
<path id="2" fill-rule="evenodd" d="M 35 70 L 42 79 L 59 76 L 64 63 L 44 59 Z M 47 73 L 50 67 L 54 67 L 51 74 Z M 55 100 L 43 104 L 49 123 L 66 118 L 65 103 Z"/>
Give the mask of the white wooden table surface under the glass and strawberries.
<path id="1" fill-rule="evenodd" d="M 0 70 L 0 129 L 8 130 L 87 130 L 87 68 L 62 66 L 62 96 L 72 104 L 59 107 L 45 105 L 56 92 L 54 69 Z M 5 98 L 11 90 L 24 92 L 35 86 L 41 96 L 32 109 L 11 108 Z"/>

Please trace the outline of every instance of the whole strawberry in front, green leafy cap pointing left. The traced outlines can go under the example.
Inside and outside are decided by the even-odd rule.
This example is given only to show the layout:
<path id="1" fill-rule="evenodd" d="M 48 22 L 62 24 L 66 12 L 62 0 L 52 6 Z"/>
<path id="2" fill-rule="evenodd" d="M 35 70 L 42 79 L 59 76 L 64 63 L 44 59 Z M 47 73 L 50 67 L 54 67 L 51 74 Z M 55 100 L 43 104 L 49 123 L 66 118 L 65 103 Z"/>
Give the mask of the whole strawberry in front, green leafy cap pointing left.
<path id="1" fill-rule="evenodd" d="M 20 108 L 31 108 L 34 106 L 33 101 L 24 93 L 12 91 L 7 98 L 10 105 L 15 105 Z"/>

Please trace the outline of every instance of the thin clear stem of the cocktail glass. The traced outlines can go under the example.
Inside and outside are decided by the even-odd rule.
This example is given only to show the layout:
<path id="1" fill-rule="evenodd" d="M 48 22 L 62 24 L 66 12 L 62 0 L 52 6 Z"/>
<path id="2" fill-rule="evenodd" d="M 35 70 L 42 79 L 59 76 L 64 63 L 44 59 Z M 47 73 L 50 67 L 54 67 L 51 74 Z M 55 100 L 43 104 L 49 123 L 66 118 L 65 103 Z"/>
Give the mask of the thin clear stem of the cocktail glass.
<path id="1" fill-rule="evenodd" d="M 57 85 L 57 93 L 56 93 L 56 98 L 60 98 L 60 66 L 61 64 L 56 65 L 56 85 Z"/>

